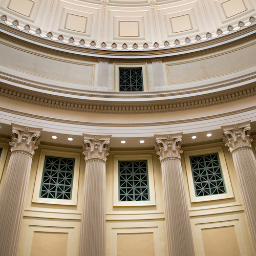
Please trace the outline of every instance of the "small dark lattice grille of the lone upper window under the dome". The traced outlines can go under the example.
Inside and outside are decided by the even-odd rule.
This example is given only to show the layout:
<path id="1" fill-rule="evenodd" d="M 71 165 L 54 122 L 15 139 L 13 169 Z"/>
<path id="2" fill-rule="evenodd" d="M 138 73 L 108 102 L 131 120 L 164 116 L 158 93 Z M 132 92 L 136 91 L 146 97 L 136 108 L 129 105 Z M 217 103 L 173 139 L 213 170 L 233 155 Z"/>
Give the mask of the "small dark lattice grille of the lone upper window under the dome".
<path id="1" fill-rule="evenodd" d="M 142 92 L 142 70 L 141 68 L 122 69 L 119 68 L 119 92 Z"/>

